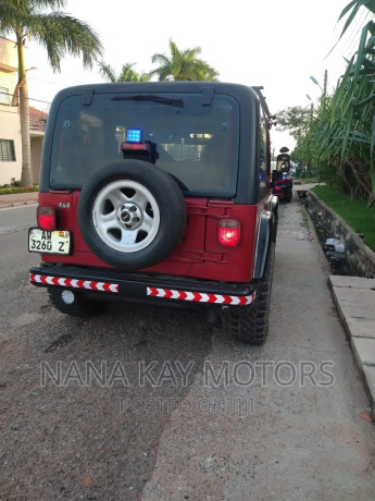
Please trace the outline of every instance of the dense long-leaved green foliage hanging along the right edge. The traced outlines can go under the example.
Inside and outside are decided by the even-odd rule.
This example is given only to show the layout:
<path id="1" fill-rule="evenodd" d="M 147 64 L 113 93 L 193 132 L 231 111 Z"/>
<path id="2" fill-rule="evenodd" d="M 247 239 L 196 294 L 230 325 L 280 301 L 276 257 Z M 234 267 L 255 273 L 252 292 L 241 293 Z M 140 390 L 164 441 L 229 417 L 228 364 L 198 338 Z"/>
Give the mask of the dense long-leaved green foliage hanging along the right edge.
<path id="1" fill-rule="evenodd" d="M 342 34 L 360 7 L 375 13 L 375 0 L 350 2 L 340 15 L 348 14 Z M 370 21 L 333 96 L 322 101 L 295 150 L 295 158 L 323 171 L 330 186 L 367 198 L 368 204 L 375 194 L 374 73 L 375 23 Z"/>

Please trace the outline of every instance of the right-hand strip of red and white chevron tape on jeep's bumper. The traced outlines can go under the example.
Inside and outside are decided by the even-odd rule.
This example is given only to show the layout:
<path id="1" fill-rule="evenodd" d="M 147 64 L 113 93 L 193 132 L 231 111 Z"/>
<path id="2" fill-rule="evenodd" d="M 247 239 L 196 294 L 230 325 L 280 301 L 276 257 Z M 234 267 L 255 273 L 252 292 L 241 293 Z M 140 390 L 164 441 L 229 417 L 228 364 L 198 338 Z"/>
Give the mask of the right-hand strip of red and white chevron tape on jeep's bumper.
<path id="1" fill-rule="evenodd" d="M 204 294 L 202 292 L 176 291 L 173 289 L 147 288 L 147 295 L 164 300 L 193 301 L 197 303 L 211 303 L 230 306 L 247 306 L 253 303 L 255 293 L 247 296 L 229 296 L 226 294 Z"/>

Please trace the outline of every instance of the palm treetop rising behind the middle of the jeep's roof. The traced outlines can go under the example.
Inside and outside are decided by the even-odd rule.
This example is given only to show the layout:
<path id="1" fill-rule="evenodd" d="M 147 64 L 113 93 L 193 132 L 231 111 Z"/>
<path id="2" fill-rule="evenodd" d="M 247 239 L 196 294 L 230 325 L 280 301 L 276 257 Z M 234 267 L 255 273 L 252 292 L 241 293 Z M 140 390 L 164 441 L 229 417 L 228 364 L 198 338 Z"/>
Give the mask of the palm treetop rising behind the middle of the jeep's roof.
<path id="1" fill-rule="evenodd" d="M 171 57 L 155 53 L 152 62 L 159 68 L 151 73 L 159 76 L 160 81 L 216 81 L 218 73 L 205 61 L 198 59 L 200 47 L 180 51 L 176 44 L 170 40 Z"/>

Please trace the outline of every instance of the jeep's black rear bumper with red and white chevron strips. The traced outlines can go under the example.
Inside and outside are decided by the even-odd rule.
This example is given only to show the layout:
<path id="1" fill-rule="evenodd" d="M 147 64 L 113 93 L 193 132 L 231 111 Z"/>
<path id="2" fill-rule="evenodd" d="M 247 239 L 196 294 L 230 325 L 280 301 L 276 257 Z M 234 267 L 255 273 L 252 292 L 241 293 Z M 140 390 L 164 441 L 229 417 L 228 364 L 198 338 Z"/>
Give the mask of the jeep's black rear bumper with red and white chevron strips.
<path id="1" fill-rule="evenodd" d="M 184 277 L 124 273 L 102 268 L 49 266 L 30 269 L 30 282 L 45 288 L 79 291 L 102 301 L 136 301 L 210 306 L 248 306 L 255 288 L 247 283 L 215 282 Z"/>

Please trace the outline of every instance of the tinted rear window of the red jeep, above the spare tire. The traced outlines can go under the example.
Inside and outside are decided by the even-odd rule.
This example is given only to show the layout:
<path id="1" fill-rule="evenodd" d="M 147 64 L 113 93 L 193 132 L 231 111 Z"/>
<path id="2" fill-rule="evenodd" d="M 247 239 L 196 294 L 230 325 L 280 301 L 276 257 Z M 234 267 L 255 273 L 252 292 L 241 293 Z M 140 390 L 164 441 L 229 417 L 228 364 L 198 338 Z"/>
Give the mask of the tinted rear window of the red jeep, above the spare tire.
<path id="1" fill-rule="evenodd" d="M 52 144 L 51 187 L 79 188 L 97 169 L 121 160 L 127 129 L 153 144 L 155 164 L 191 195 L 236 194 L 239 110 L 237 101 L 201 94 L 95 94 L 60 106 Z"/>

